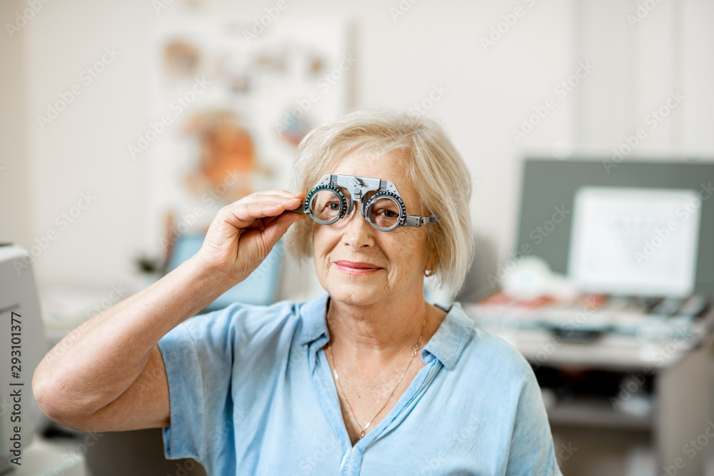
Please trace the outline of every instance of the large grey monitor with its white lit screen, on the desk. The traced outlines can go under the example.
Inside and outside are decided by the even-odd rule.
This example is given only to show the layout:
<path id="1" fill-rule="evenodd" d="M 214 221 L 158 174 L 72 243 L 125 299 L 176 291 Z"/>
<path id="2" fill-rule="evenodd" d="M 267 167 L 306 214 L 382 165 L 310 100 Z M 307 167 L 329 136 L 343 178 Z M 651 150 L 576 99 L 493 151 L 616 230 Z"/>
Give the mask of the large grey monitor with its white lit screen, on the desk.
<path id="1" fill-rule="evenodd" d="M 588 228 L 588 223 L 573 223 L 574 211 L 576 208 L 590 208 L 593 213 L 602 215 L 610 207 L 610 212 L 605 215 L 609 216 L 613 226 L 619 223 L 618 239 L 637 241 L 630 243 L 628 259 L 634 260 L 641 268 L 652 265 L 650 257 L 657 258 L 662 264 L 663 258 L 669 256 L 673 273 L 691 274 L 692 292 L 714 295 L 714 273 L 711 272 L 714 269 L 714 247 L 711 245 L 714 243 L 713 181 L 714 162 L 632 160 L 614 163 L 608 158 L 527 158 L 523 163 L 521 211 L 514 255 L 539 256 L 548 262 L 556 273 L 575 272 L 583 275 L 583 269 L 588 269 L 583 268 L 587 263 L 570 263 L 570 258 L 573 258 L 571 247 L 590 247 L 589 249 L 593 250 L 591 256 L 605 253 L 602 249 L 593 247 L 602 245 L 608 236 L 613 238 L 615 231 L 605 233 L 603 238 L 603 228 L 600 227 L 598 233 L 602 239 L 594 240 L 593 230 Z M 629 194 L 633 200 L 625 201 L 624 194 Z M 677 201 L 678 205 L 673 208 L 673 202 L 668 202 L 668 196 Z M 690 196 L 695 199 L 689 199 Z M 615 208 L 612 208 L 614 198 L 620 200 L 620 205 L 615 204 Z M 660 203 L 660 213 L 650 213 L 650 218 L 659 220 L 667 211 L 671 216 L 666 223 L 647 221 L 648 216 L 645 216 L 647 213 L 643 207 L 652 201 Z M 625 205 L 642 209 L 639 215 L 630 213 L 630 216 L 639 218 L 642 223 L 630 223 L 628 226 L 620 226 L 620 222 L 615 223 L 618 216 L 626 218 L 626 214 L 623 214 Z M 645 221 L 647 223 L 644 223 Z M 675 223 L 670 223 L 672 221 Z M 590 221 L 589 224 L 592 223 Z M 667 235 L 665 228 L 668 225 L 674 226 L 675 229 L 670 230 L 674 233 L 664 240 L 662 234 Z M 577 234 L 578 231 L 583 239 L 573 240 L 573 232 Z M 658 234 L 658 231 L 661 233 Z M 680 240 L 683 244 L 680 246 L 675 240 Z M 678 249 L 683 246 L 694 249 Z M 583 250 L 575 255 L 583 256 Z M 691 263 L 687 263 L 688 260 L 691 260 Z M 678 269 L 674 269 L 673 263 L 679 265 Z M 604 266 L 602 260 L 595 265 L 600 268 Z M 660 270 L 663 268 L 660 266 Z M 630 271 L 634 270 L 636 269 L 633 266 Z M 613 268 L 615 274 L 610 280 L 605 274 L 591 275 L 591 278 L 597 278 L 600 283 L 617 283 L 618 279 L 623 278 L 621 273 L 616 274 L 621 271 Z M 601 269 L 600 272 L 607 273 L 608 270 Z M 637 276 L 631 273 L 626 283 L 630 288 L 640 290 L 638 294 L 668 294 L 663 292 L 667 289 L 663 287 L 667 277 L 662 276 L 663 279 L 655 283 L 651 276 L 648 280 L 647 275 L 640 274 L 640 282 L 637 281 Z M 683 276 L 678 281 L 680 287 L 674 286 L 672 289 L 683 290 L 684 282 Z"/>

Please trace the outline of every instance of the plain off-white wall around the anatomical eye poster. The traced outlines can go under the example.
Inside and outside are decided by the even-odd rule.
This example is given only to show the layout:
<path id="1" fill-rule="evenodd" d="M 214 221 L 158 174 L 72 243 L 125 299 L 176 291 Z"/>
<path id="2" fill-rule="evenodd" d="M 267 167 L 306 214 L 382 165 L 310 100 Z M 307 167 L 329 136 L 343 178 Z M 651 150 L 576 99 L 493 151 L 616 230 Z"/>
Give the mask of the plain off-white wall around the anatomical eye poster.
<path id="1" fill-rule="evenodd" d="M 633 157 L 714 156 L 714 6 L 708 0 L 663 0 L 635 28 L 625 18 L 637 8 L 632 0 L 421 0 L 413 5 L 403 0 L 411 7 L 396 21 L 389 9 L 399 8 L 397 0 L 286 2 L 286 16 L 328 11 L 353 19 L 356 106 L 409 108 L 428 97 L 434 85 L 448 89 L 430 112 L 448 128 L 475 181 L 471 212 L 481 240 L 476 263 L 483 263 L 478 286 L 487 286 L 486 274 L 511 250 L 524 153 L 548 155 L 556 145 L 609 155 L 650 108 L 679 88 L 685 101 Z M 206 1 L 204 6 L 259 16 L 274 4 Z M 23 6 L 4 3 L 3 23 Z M 516 7 L 523 16 L 484 51 L 481 37 Z M 161 15 L 183 8 L 174 0 Z M 0 173 L 0 185 L 11 182 L 16 192 L 1 204 L 0 240 L 29 247 L 48 230 L 58 231 L 36 258 L 41 284 L 108 289 L 131 280 L 131 258 L 142 246 L 146 164 L 130 162 L 126 145 L 148 119 L 145 46 L 156 15 L 144 0 L 66 0 L 46 4 L 15 39 L 0 34 L 0 133 L 13 141 L 2 151 L 0 166 L 6 172 Z M 114 47 L 119 57 L 84 86 L 80 72 L 105 47 Z M 595 69 L 560 100 L 553 88 L 575 73 L 579 61 L 590 61 Z M 12 67 L 5 71 L 8 64 Z M 81 95 L 43 130 L 36 116 L 74 83 L 81 84 Z M 24 90 L 12 87 L 22 84 Z M 512 128 L 547 98 L 557 99 L 553 111 L 516 144 Z M 17 175 L 11 176 L 15 169 Z M 25 180 L 26 186 L 18 185 Z M 96 201 L 60 230 L 56 217 L 87 191 Z M 0 193 L 8 196 L 6 189 Z"/>

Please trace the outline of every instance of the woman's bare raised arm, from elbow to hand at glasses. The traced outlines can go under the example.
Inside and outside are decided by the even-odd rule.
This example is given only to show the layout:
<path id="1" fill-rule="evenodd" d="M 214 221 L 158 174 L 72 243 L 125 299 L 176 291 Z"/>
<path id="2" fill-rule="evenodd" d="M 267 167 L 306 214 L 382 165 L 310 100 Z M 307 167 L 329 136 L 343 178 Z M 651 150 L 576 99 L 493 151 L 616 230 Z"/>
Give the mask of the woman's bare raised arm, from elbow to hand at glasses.
<path id="1" fill-rule="evenodd" d="M 34 373 L 34 396 L 46 415 L 79 430 L 169 426 L 169 387 L 156 343 L 250 275 L 288 227 L 305 218 L 283 213 L 301 199 L 286 191 L 253 193 L 221 208 L 193 258 L 66 335 Z"/>

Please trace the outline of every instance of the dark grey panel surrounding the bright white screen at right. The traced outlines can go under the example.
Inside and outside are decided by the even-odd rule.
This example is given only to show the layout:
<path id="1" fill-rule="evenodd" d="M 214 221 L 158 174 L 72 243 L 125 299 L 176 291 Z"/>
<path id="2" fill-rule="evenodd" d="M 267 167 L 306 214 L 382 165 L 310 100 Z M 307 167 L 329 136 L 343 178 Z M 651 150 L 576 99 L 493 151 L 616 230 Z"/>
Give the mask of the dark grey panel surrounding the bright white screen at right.
<path id="1" fill-rule="evenodd" d="M 556 273 L 568 274 L 572 268 L 568 260 L 573 241 L 575 201 L 585 189 L 596 192 L 605 188 L 621 189 L 630 193 L 635 191 L 638 196 L 641 194 L 637 191 L 688 192 L 697 196 L 700 208 L 696 210 L 698 237 L 692 240 L 697 243 L 692 292 L 714 295 L 714 273 L 711 272 L 714 269 L 713 182 L 714 161 L 526 158 L 515 256 L 538 256 Z M 688 223 L 680 223 L 685 219 Z M 685 209 L 675 214 L 678 232 L 693 219 L 694 214 Z M 655 245 L 657 243 L 655 241 Z M 658 251 L 657 257 L 660 255 Z"/>

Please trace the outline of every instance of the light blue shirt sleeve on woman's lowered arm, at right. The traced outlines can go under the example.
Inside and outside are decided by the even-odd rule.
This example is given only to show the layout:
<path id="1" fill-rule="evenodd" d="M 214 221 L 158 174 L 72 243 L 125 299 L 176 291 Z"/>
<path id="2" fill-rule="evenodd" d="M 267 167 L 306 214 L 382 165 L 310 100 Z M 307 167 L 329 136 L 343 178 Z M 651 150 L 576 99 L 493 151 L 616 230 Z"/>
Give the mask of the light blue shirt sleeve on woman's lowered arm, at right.
<path id="1" fill-rule="evenodd" d="M 511 435 L 506 475 L 563 476 L 555 460 L 548 414 L 533 370 L 526 369 Z"/>

